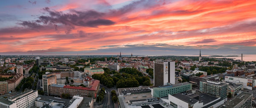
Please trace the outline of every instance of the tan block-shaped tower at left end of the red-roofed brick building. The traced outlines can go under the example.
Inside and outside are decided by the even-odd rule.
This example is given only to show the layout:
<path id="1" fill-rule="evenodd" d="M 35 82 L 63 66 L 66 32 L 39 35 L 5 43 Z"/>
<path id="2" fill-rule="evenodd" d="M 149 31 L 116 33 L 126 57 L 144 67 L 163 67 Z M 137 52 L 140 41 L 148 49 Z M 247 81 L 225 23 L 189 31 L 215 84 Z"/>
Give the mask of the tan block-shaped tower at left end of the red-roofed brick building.
<path id="1" fill-rule="evenodd" d="M 44 74 L 42 81 L 44 94 L 49 95 L 49 85 L 57 83 L 55 73 Z"/>

